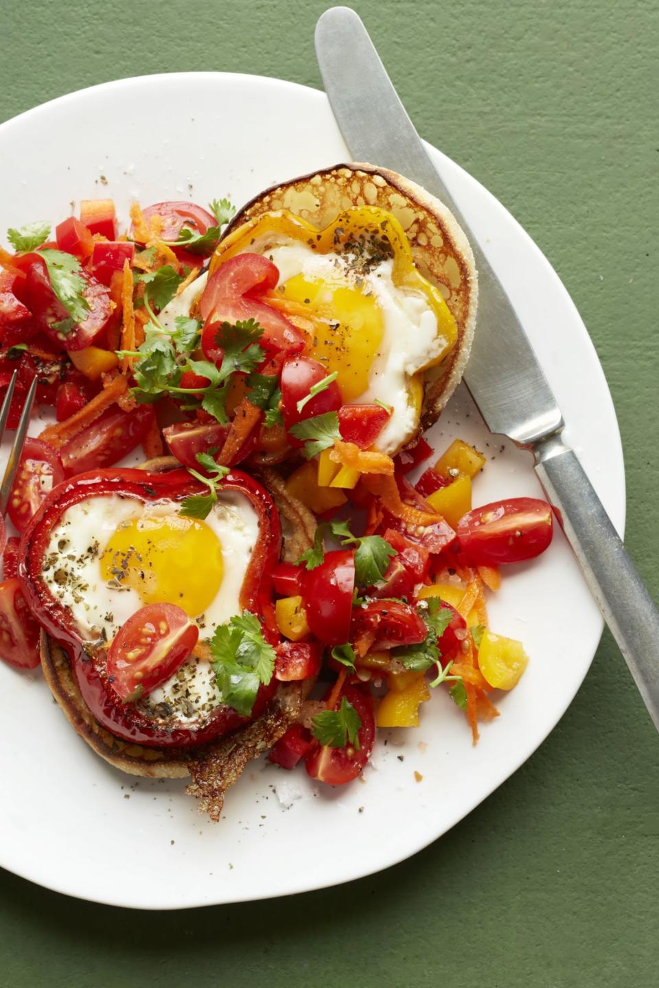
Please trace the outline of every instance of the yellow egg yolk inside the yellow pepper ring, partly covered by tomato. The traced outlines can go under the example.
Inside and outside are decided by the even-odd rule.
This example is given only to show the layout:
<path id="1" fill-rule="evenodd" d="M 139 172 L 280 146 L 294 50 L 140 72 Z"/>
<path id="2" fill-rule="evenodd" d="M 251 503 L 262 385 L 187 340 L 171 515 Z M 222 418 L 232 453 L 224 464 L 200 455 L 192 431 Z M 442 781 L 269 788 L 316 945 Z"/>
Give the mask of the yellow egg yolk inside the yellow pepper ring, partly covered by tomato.
<path id="1" fill-rule="evenodd" d="M 336 371 L 341 397 L 355 401 L 369 388 L 371 364 L 384 335 L 382 311 L 374 296 L 342 282 L 307 281 L 303 275 L 289 278 L 281 290 L 315 318 L 309 356 L 328 373 Z"/>

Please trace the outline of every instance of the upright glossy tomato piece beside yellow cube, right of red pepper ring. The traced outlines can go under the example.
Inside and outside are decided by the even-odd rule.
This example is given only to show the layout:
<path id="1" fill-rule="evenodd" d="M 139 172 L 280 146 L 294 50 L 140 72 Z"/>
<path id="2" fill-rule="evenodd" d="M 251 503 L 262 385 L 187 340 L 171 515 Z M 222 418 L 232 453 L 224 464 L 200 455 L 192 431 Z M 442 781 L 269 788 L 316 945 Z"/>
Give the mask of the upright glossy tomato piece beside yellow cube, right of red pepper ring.
<path id="1" fill-rule="evenodd" d="M 302 598 L 312 633 L 325 645 L 348 641 L 355 591 L 355 553 L 326 552 L 323 562 L 304 573 Z"/>

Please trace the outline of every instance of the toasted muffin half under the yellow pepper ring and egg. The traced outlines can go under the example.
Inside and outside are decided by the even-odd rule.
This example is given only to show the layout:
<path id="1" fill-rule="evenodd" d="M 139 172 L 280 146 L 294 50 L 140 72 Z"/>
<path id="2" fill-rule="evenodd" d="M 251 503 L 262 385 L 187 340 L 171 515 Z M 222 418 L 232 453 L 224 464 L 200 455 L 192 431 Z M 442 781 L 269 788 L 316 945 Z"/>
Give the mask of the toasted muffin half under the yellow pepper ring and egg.
<path id="1" fill-rule="evenodd" d="M 478 281 L 469 242 L 451 210 L 409 179 L 386 168 L 335 165 L 273 186 L 243 206 L 222 241 L 265 212 L 288 210 L 318 229 L 351 206 L 387 210 L 403 227 L 414 265 L 441 291 L 457 327 L 453 349 L 442 364 L 424 371 L 421 429 L 435 423 L 466 367 L 476 324 Z M 418 435 L 408 446 L 413 446 Z"/>

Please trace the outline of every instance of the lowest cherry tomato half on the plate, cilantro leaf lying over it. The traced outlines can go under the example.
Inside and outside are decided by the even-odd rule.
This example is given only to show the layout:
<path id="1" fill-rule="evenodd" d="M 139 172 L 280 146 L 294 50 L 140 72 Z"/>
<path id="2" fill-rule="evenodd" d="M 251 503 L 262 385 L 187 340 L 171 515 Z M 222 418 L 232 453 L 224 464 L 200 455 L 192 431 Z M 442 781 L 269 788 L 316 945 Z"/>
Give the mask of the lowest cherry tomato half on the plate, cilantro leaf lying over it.
<path id="1" fill-rule="evenodd" d="M 345 697 L 357 710 L 362 726 L 357 732 L 357 745 L 348 743 L 345 748 L 332 748 L 315 742 L 304 760 L 307 774 L 311 779 L 328 782 L 330 785 L 343 785 L 357 779 L 371 758 L 375 739 L 375 717 L 370 693 L 358 687 L 347 686 L 341 692 L 335 709 Z"/>

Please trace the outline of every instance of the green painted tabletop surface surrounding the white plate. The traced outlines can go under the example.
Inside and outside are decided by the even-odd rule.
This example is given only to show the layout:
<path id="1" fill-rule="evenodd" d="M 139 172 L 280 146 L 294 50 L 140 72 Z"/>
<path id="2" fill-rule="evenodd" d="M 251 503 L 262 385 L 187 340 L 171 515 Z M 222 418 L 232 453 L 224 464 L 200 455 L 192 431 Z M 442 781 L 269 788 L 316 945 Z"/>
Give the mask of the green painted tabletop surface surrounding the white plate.
<path id="1" fill-rule="evenodd" d="M 227 69 L 319 85 L 312 39 L 324 6 L 5 0 L 0 119 L 146 72 Z M 627 544 L 659 597 L 659 8 L 355 7 L 421 132 L 512 210 L 589 326 L 618 409 Z M 144 112 L 166 120 L 166 108 Z M 3 874 L 2 981 L 649 988 L 659 960 L 658 769 L 656 732 L 605 634 L 531 761 L 411 861 L 293 899 L 174 914 L 79 903 Z"/>

